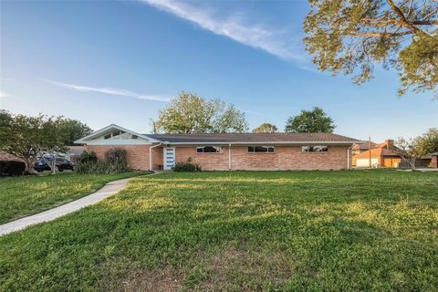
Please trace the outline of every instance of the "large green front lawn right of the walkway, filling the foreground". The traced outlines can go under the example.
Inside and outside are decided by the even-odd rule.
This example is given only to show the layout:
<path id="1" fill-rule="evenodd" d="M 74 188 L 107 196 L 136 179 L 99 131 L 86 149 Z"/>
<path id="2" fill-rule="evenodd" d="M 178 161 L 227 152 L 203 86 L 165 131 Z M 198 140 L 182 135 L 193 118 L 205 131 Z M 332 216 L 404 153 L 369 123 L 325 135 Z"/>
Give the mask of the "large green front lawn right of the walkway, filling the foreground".
<path id="1" fill-rule="evenodd" d="M 0 290 L 437 291 L 438 173 L 193 172 L 0 237 Z"/>

